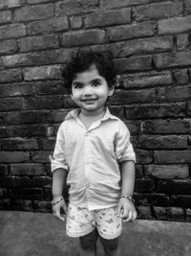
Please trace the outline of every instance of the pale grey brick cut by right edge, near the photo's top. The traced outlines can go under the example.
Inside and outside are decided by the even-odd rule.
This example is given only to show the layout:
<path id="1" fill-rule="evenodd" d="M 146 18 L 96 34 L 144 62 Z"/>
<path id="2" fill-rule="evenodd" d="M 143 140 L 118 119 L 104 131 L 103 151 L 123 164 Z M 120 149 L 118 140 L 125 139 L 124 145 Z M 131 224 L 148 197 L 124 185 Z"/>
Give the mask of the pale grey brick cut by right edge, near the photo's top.
<path id="1" fill-rule="evenodd" d="M 191 16 L 159 20 L 159 35 L 188 32 L 191 29 Z"/>

